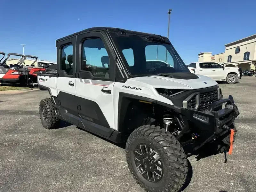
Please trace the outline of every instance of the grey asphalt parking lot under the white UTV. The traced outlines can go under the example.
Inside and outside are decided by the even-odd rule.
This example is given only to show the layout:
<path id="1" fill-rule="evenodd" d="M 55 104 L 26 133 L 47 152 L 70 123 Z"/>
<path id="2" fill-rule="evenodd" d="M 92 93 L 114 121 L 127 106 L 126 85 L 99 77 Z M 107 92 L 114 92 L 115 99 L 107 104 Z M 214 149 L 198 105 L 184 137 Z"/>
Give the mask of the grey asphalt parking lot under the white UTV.
<path id="1" fill-rule="evenodd" d="M 192 165 L 184 192 L 256 191 L 256 77 L 221 83 L 239 108 L 233 154 L 208 156 Z M 0 191 L 142 192 L 133 180 L 123 148 L 62 123 L 45 130 L 38 104 L 47 91 L 0 94 Z"/>

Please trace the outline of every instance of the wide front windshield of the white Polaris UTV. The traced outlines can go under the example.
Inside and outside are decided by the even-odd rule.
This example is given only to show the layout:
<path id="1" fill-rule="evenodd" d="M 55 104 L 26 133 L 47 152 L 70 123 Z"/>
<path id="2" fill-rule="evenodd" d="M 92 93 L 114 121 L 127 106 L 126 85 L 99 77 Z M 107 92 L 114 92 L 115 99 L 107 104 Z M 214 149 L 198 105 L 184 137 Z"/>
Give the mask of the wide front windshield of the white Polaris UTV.
<path id="1" fill-rule="evenodd" d="M 118 36 L 112 33 L 111 36 L 132 76 L 190 73 L 172 44 L 150 41 L 138 35 Z"/>

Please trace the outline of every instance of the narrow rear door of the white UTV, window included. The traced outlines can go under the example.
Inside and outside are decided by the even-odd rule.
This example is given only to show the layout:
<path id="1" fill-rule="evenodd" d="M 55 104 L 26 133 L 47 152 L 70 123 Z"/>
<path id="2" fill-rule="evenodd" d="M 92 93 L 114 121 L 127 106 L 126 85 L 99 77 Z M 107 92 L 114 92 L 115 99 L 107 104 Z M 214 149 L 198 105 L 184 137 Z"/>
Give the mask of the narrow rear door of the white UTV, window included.
<path id="1" fill-rule="evenodd" d="M 56 78 L 58 96 L 55 99 L 55 103 L 61 116 L 77 125 L 76 61 L 75 57 L 73 57 L 75 55 L 75 39 L 76 37 L 72 37 L 57 44 L 57 70 L 59 77 Z"/>

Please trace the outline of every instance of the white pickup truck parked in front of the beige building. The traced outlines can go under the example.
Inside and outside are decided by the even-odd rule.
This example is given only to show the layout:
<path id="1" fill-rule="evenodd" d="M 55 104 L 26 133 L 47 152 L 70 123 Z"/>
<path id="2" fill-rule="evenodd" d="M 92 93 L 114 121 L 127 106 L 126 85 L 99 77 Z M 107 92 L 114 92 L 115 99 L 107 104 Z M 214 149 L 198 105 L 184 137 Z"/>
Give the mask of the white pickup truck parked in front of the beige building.
<path id="1" fill-rule="evenodd" d="M 215 81 L 227 81 L 229 84 L 236 83 L 241 79 L 238 68 L 225 67 L 216 62 L 195 62 L 190 63 L 189 67 L 195 68 L 195 73 L 211 77 Z"/>

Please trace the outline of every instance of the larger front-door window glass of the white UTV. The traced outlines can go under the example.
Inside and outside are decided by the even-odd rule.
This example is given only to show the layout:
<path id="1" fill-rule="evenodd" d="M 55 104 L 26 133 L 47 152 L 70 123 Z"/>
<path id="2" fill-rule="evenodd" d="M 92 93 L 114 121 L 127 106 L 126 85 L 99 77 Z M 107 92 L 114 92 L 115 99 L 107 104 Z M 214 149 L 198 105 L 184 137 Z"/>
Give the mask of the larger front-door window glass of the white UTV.
<path id="1" fill-rule="evenodd" d="M 101 39 L 87 39 L 82 45 L 82 70 L 109 79 L 109 57 Z"/>

